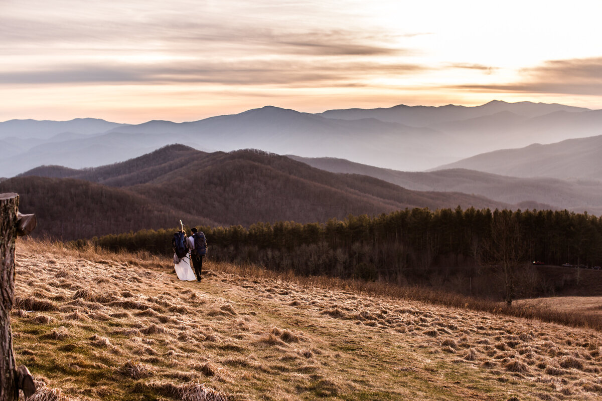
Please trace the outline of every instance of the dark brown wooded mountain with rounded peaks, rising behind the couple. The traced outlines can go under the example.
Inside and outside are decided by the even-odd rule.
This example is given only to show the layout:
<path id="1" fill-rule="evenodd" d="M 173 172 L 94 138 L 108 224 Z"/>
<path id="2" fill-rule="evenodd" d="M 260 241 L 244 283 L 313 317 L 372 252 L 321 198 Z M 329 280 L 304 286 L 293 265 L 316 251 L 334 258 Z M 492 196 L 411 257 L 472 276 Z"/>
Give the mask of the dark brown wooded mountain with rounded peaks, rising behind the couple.
<path id="1" fill-rule="evenodd" d="M 57 175 L 57 171 L 57 167 L 38 168 L 0 183 L 0 192 L 22 194 L 22 210 L 36 212 L 45 221 L 46 228 L 39 235 L 71 238 L 65 224 L 75 223 L 69 213 L 85 227 L 85 236 L 107 233 L 113 223 L 102 221 L 102 213 L 94 211 L 117 213 L 112 205 L 120 203 L 123 210 L 117 214 L 127 224 L 115 227 L 114 232 L 136 225 L 165 225 L 165 219 L 180 212 L 187 216 L 188 224 L 250 225 L 257 221 L 326 221 L 405 207 L 509 206 L 476 195 L 410 191 L 373 177 L 329 173 L 285 156 L 252 150 L 205 153 L 173 145 L 110 166 L 60 170 L 63 176 L 71 173 L 70 177 L 78 179 L 30 175 Z M 94 181 L 93 185 L 82 185 L 82 179 Z M 157 211 L 163 214 L 155 220 L 152 213 Z M 78 235 L 84 231 L 79 230 Z"/>

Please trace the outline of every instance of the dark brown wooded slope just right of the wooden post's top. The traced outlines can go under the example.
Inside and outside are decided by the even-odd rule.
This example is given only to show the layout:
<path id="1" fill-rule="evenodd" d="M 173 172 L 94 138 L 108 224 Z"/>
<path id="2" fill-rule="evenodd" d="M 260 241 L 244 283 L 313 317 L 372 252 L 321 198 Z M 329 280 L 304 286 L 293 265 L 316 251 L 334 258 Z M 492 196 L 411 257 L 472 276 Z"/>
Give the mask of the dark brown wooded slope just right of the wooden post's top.
<path id="1" fill-rule="evenodd" d="M 33 235 L 71 240 L 143 228 L 171 228 L 179 219 L 216 224 L 211 219 L 158 204 L 131 191 L 75 179 L 15 177 L 0 192 L 19 194 L 19 210 L 36 213 Z"/>

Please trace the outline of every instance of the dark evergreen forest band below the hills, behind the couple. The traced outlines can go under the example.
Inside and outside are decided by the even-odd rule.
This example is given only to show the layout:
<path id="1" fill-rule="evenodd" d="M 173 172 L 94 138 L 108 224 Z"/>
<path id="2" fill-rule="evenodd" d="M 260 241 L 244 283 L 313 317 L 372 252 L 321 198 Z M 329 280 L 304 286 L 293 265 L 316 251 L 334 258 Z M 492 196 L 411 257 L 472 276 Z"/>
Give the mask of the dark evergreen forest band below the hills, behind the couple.
<path id="1" fill-rule="evenodd" d="M 504 266 L 515 276 L 514 295 L 533 296 L 579 284 L 573 283 L 573 276 L 542 274 L 533 261 L 602 264 L 602 218 L 566 210 L 415 208 L 325 223 L 197 228 L 208 239 L 208 257 L 218 262 L 302 275 L 429 284 L 480 296 L 504 292 Z M 174 231 L 110 234 L 92 243 L 114 251 L 170 256 Z"/>

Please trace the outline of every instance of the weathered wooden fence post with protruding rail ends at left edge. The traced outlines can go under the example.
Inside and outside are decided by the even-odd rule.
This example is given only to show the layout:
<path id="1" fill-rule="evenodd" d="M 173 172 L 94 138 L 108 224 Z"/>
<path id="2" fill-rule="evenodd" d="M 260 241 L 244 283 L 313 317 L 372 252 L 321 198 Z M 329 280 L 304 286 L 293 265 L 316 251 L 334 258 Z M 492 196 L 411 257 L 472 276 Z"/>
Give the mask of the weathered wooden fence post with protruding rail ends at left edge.
<path id="1" fill-rule="evenodd" d="M 0 401 L 16 401 L 19 389 L 25 398 L 36 393 L 36 385 L 29 370 L 15 366 L 13 332 L 10 328 L 10 310 L 14 300 L 14 245 L 17 235 L 29 234 L 36 228 L 35 215 L 22 215 L 19 195 L 0 194 Z"/>

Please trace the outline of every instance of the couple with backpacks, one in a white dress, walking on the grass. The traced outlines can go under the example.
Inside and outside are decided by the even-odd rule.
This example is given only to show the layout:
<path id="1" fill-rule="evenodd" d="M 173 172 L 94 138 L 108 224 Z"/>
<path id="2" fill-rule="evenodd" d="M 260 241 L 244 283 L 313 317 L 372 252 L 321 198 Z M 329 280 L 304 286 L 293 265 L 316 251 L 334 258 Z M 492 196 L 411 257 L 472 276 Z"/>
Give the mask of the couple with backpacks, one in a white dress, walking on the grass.
<path id="1" fill-rule="evenodd" d="M 203 231 L 191 228 L 192 234 L 186 236 L 184 229 L 173 234 L 173 263 L 180 280 L 201 280 L 203 256 L 207 253 L 207 240 Z M 190 251 L 190 254 L 188 253 Z M 194 267 L 194 272 L 191 267 Z"/>

